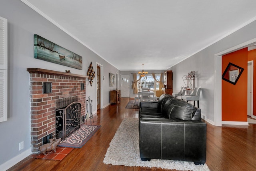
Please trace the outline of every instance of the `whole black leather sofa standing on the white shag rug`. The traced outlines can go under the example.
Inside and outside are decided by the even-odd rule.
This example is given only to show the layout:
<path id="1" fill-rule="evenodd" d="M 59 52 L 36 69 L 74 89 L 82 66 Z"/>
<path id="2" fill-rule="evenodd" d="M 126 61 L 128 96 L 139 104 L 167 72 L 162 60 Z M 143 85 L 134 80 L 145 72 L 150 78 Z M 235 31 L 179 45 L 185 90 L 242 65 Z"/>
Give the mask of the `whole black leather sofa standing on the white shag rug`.
<path id="1" fill-rule="evenodd" d="M 201 109 L 162 94 L 158 101 L 141 101 L 140 158 L 206 162 L 206 123 Z"/>

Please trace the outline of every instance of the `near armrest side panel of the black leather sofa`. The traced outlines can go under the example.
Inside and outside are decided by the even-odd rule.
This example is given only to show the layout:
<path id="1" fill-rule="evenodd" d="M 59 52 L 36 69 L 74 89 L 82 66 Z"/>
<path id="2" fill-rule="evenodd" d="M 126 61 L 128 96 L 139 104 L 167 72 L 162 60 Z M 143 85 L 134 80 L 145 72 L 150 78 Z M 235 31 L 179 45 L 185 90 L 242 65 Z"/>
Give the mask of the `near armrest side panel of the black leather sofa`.
<path id="1" fill-rule="evenodd" d="M 166 118 L 140 118 L 140 157 L 204 163 L 206 123 Z"/>

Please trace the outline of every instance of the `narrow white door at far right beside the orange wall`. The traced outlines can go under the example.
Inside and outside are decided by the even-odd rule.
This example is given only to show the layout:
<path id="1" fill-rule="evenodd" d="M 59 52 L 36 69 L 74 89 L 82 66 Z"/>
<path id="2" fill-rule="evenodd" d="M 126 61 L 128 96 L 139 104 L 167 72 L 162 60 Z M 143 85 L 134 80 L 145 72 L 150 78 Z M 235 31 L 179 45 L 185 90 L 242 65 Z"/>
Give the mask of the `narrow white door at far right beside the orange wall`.
<path id="1" fill-rule="evenodd" d="M 247 66 L 247 115 L 253 115 L 253 61 L 248 61 Z"/>

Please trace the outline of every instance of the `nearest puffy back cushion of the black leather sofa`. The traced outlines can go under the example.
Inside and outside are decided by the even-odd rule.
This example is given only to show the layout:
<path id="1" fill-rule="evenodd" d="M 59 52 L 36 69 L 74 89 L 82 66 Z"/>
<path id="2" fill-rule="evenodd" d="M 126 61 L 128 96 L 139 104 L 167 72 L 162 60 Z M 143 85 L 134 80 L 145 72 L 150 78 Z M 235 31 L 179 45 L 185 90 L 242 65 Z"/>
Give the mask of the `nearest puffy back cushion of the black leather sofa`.
<path id="1" fill-rule="evenodd" d="M 198 108 L 194 105 L 187 103 L 186 101 L 173 98 L 166 101 L 162 114 L 169 119 L 194 120 L 193 117 L 197 109 Z"/>

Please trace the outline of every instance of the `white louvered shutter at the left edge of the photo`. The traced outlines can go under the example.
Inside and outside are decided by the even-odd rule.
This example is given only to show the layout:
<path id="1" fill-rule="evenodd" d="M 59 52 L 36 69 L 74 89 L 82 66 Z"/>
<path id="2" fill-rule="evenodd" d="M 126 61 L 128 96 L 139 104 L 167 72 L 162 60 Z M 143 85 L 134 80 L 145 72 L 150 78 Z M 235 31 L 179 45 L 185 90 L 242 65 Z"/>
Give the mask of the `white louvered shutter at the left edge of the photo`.
<path id="1" fill-rule="evenodd" d="M 7 121 L 7 19 L 0 17 L 0 122 Z"/>

